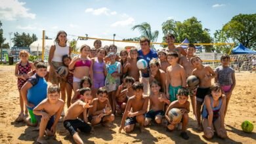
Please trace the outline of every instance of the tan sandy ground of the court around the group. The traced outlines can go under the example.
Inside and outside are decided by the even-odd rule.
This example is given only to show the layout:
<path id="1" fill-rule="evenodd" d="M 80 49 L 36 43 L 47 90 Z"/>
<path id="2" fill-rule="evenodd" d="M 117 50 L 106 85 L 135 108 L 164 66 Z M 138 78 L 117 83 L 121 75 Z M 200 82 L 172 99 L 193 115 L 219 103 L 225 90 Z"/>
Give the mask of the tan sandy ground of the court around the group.
<path id="1" fill-rule="evenodd" d="M 34 143 L 38 131 L 24 122 L 14 122 L 20 112 L 14 65 L 0 65 L 0 143 Z M 256 143 L 256 73 L 236 73 L 236 88 L 233 91 L 225 124 L 227 139 L 215 136 L 211 140 L 203 138 L 202 132 L 194 130 L 196 120 L 192 117 L 188 124 L 189 140 L 179 137 L 181 132 L 166 132 L 163 126 L 152 124 L 140 134 L 139 128 L 131 134 L 118 133 L 121 117 L 116 117 L 112 128 L 95 127 L 95 134 L 79 134 L 85 143 Z M 251 134 L 241 130 L 244 120 L 253 122 Z M 46 137 L 49 143 L 74 143 L 72 136 L 58 123 L 56 137 Z"/>

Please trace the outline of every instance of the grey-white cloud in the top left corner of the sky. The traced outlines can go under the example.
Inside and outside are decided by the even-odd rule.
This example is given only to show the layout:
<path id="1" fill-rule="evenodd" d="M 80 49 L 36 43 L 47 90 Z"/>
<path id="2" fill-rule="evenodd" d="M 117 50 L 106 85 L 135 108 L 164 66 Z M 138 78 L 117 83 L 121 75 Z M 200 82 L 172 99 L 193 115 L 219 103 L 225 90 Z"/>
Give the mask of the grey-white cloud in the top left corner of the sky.
<path id="1" fill-rule="evenodd" d="M 35 18 L 35 14 L 28 12 L 24 7 L 26 3 L 18 0 L 1 0 L 0 18 L 3 20 L 16 20 L 16 18 Z"/>

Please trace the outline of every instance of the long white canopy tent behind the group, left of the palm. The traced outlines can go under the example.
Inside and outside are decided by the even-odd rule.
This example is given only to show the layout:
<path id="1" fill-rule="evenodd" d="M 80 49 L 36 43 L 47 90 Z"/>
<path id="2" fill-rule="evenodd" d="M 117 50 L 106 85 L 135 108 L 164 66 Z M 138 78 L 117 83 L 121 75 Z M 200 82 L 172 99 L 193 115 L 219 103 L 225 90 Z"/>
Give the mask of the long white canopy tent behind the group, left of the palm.
<path id="1" fill-rule="evenodd" d="M 93 39 L 88 39 L 88 40 L 78 40 L 77 41 L 77 48 L 80 48 L 81 45 L 89 45 L 91 48 L 93 48 L 93 43 L 95 40 Z M 31 45 L 30 45 L 30 51 L 36 52 L 37 50 L 39 52 L 42 51 L 42 39 L 39 39 L 37 41 L 34 41 Z M 113 41 L 102 41 L 102 47 L 105 45 L 112 45 Z M 122 49 L 124 49 L 125 47 L 129 46 L 135 46 L 136 48 L 139 48 L 140 45 L 139 43 L 127 43 L 127 42 L 117 42 L 115 41 L 114 43 L 117 46 L 117 52 L 120 52 Z M 53 39 L 45 39 L 45 49 L 49 50 L 51 48 L 51 45 L 54 45 L 54 40 Z"/>

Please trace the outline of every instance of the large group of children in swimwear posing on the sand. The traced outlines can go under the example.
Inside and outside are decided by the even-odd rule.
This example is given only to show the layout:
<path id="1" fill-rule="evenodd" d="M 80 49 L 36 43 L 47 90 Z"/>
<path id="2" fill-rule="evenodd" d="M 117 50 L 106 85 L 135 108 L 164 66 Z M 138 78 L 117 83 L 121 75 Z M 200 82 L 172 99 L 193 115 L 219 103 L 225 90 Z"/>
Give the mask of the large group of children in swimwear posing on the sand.
<path id="1" fill-rule="evenodd" d="M 173 35 L 166 37 L 175 39 Z M 131 48 L 129 52 L 121 50 L 117 56 L 115 45 L 101 48 L 101 41 L 96 40 L 94 46 L 83 45 L 79 56 L 71 58 L 65 55 L 62 58 L 69 69 L 67 77 L 61 77 L 66 81 L 68 94 L 68 110 L 64 115 L 65 99 L 60 99 L 60 88 L 53 84 L 47 90 L 47 64 L 39 62 L 33 65 L 28 62 L 28 52 L 20 51 L 21 61 L 16 64 L 15 75 L 18 77 L 21 113 L 16 121 L 25 120 L 30 126 L 39 124 L 39 143 L 46 143 L 44 134 L 56 132 L 56 124 L 62 116 L 64 127 L 76 143 L 83 143 L 77 132 L 93 132 L 91 126 L 96 124 L 110 127 L 115 115 L 123 115 L 119 132 L 133 131 L 136 123 L 143 132 L 144 126 L 155 121 L 166 126 L 167 130 L 174 130 L 179 125 L 181 137 L 189 139 L 186 134 L 190 112 L 188 96 L 198 121 L 198 130 L 203 130 L 206 138 L 213 137 L 214 132 L 219 137 L 226 137 L 224 116 L 236 84 L 234 70 L 228 66 L 228 55 L 221 57 L 222 65 L 214 71 L 194 55 L 194 45 L 188 45 L 184 52 L 179 48 L 160 50 L 158 58 L 148 63 L 148 96 L 143 94 L 144 84 L 139 82 L 137 48 Z M 187 86 L 186 78 L 190 75 L 198 77 L 198 86 Z M 211 84 L 213 78 L 216 84 Z M 25 113 L 24 103 L 28 109 Z M 168 116 L 173 108 L 181 109 L 182 120 L 173 121 Z M 30 118 L 26 117 L 28 113 Z"/>

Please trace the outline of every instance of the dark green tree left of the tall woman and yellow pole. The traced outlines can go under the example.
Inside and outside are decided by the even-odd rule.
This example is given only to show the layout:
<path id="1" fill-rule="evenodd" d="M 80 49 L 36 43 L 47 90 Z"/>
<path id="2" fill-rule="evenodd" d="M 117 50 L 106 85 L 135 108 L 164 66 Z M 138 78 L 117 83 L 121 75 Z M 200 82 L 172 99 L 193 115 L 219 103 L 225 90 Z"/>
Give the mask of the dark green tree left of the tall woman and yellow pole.
<path id="1" fill-rule="evenodd" d="M 20 33 L 16 32 L 14 33 L 14 38 L 12 38 L 12 42 L 14 43 L 14 46 L 17 47 L 29 47 L 34 41 L 37 41 L 37 37 L 35 34 L 32 34 L 30 36 L 30 33 Z"/>

